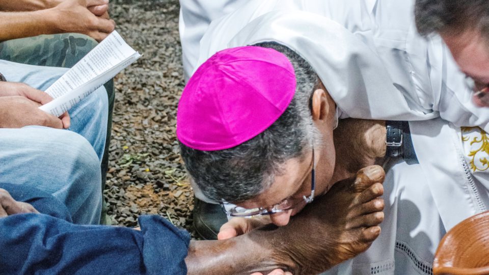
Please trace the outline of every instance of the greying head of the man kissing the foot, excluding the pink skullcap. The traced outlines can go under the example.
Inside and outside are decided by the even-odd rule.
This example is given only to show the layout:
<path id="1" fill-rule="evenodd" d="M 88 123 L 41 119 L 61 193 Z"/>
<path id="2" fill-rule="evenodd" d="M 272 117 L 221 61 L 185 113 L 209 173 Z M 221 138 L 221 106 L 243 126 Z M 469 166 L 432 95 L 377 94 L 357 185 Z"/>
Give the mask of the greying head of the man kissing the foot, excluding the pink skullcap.
<path id="1" fill-rule="evenodd" d="M 271 209 L 287 200 L 293 207 L 271 214 L 277 225 L 285 225 L 290 215 L 305 206 L 303 197 L 311 195 L 313 163 L 316 194 L 328 188 L 335 166 L 335 104 L 314 70 L 298 54 L 277 43 L 256 46 L 283 53 L 293 66 L 296 88 L 285 111 L 265 130 L 237 146 L 197 150 L 180 143 L 181 154 L 193 181 L 209 199 L 248 209 Z M 274 79 L 274 72 L 267 77 L 281 81 Z"/>

